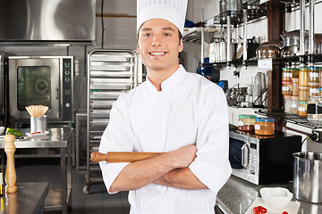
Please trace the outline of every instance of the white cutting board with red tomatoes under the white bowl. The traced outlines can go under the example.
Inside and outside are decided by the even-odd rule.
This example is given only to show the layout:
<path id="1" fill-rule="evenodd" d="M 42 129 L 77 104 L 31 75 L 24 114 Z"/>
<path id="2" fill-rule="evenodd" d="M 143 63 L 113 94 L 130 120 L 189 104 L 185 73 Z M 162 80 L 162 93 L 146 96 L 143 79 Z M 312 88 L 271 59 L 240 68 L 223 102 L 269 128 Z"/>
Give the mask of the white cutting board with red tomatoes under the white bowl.
<path id="1" fill-rule="evenodd" d="M 254 207 L 257 207 L 257 206 L 262 206 L 262 207 L 265 207 L 267 209 L 267 213 L 266 214 L 282 214 L 284 211 L 287 211 L 288 214 L 297 214 L 299 209 L 300 209 L 300 205 L 301 205 L 301 202 L 290 202 L 287 207 L 285 207 L 284 209 L 281 209 L 281 210 L 275 210 L 275 209 L 272 209 L 272 208 L 269 208 L 264 200 L 260 197 L 258 197 L 255 202 L 253 202 L 249 208 L 249 210 L 247 210 L 247 212 L 245 214 L 254 214 Z"/>

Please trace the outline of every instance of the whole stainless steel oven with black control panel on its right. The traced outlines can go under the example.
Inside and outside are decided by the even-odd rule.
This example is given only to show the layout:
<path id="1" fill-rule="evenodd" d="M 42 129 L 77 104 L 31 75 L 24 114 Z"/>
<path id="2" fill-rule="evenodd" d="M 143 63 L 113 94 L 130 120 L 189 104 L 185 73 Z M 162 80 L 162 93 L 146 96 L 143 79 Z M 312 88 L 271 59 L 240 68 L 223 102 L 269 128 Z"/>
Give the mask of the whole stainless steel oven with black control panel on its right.
<path id="1" fill-rule="evenodd" d="M 73 56 L 10 56 L 10 120 L 30 119 L 28 105 L 46 105 L 48 121 L 73 120 Z"/>

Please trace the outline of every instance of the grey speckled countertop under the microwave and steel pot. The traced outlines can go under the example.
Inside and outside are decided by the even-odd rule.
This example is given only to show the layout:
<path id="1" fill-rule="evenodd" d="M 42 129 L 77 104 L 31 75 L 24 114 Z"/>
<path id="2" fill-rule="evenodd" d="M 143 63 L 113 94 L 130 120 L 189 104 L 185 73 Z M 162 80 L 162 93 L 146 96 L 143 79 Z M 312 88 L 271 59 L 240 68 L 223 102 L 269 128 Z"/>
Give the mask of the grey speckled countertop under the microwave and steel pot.
<path id="1" fill-rule="evenodd" d="M 259 189 L 262 187 L 284 187 L 292 192 L 292 183 L 274 185 L 253 185 L 241 178 L 231 176 L 227 183 L 217 194 L 217 203 L 220 208 L 229 214 L 244 214 L 260 197 Z M 296 201 L 294 198 L 292 201 Z M 298 214 L 322 213 L 322 204 L 301 202 Z M 293 214 L 293 213 L 290 213 Z"/>

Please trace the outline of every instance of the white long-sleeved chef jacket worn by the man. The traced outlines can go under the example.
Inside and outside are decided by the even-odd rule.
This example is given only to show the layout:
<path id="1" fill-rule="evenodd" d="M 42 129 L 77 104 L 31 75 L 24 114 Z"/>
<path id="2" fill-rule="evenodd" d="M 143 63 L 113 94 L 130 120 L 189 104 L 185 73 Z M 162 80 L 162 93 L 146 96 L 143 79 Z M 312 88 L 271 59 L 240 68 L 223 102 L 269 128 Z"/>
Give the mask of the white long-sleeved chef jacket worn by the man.
<path id="1" fill-rule="evenodd" d="M 213 214 L 216 193 L 232 172 L 224 92 L 182 65 L 161 88 L 157 92 L 147 78 L 118 98 L 99 152 L 170 152 L 197 144 L 189 169 L 208 189 L 149 184 L 129 192 L 131 214 Z M 100 162 L 107 191 L 127 164 Z"/>

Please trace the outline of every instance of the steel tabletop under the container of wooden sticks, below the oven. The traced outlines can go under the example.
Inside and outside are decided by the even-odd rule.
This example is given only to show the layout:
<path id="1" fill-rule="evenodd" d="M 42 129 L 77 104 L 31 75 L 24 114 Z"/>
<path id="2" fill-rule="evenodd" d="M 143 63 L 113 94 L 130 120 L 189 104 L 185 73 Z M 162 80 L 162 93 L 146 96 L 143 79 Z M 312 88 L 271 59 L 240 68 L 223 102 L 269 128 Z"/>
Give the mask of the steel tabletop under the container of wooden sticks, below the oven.
<path id="1" fill-rule="evenodd" d="M 19 129 L 22 133 L 30 132 L 29 128 Z M 72 133 L 71 128 L 48 128 L 47 136 L 36 136 L 27 139 L 16 139 L 16 148 L 61 148 L 67 147 L 67 140 Z M 5 145 L 4 138 L 0 139 L 0 149 Z"/>

